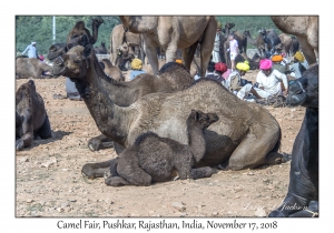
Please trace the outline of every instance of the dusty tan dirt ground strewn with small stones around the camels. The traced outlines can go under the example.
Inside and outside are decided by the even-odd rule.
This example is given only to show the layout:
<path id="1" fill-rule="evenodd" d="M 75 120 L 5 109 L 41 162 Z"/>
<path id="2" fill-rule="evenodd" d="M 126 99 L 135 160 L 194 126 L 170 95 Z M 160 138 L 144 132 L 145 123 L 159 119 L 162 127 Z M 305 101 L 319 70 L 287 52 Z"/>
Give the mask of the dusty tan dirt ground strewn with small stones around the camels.
<path id="1" fill-rule="evenodd" d="M 246 79 L 254 80 L 257 71 Z M 28 80 L 17 80 L 16 88 Z M 267 216 L 288 185 L 291 161 L 254 170 L 219 171 L 208 179 L 150 186 L 111 188 L 86 180 L 81 166 L 116 156 L 114 149 L 91 152 L 87 142 L 99 131 L 84 101 L 55 100 L 66 94 L 65 78 L 35 79 L 53 136 L 16 152 L 16 216 Z M 304 108 L 266 107 L 282 126 L 281 152 L 291 154 Z"/>

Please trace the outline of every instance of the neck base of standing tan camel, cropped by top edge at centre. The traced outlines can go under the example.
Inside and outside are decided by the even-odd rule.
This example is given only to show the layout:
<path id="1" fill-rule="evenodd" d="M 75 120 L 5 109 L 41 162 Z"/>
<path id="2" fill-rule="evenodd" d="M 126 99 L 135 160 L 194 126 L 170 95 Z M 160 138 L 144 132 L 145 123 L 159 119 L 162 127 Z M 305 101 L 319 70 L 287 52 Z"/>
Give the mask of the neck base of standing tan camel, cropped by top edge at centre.
<path id="1" fill-rule="evenodd" d="M 124 27 L 134 33 L 147 33 L 157 28 L 157 17 L 128 16 L 119 17 Z"/>

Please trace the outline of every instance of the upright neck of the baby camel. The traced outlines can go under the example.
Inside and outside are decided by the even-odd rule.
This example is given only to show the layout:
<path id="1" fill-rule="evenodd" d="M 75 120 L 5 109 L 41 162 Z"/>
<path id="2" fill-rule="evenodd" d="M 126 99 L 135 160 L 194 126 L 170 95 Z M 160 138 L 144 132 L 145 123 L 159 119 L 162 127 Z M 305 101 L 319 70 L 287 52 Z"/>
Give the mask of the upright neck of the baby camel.
<path id="1" fill-rule="evenodd" d="M 188 138 L 189 138 L 189 149 L 194 155 L 194 159 L 196 160 L 196 163 L 199 162 L 199 160 L 203 159 L 205 154 L 205 138 L 204 138 L 204 130 L 191 126 L 188 123 Z"/>

